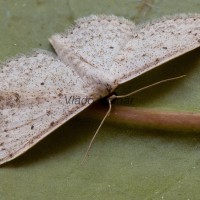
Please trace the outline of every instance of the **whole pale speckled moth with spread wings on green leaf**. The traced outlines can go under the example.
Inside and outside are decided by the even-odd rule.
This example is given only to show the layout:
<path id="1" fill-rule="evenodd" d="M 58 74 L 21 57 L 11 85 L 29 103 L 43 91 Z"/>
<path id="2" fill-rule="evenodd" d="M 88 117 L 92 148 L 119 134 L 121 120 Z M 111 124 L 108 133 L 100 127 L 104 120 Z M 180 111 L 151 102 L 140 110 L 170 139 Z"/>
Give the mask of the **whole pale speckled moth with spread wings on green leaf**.
<path id="1" fill-rule="evenodd" d="M 118 85 L 198 48 L 200 14 L 142 25 L 92 15 L 49 41 L 57 55 L 34 50 L 1 64 L 0 164 L 26 152 Z M 70 97 L 90 101 L 68 103 Z"/>

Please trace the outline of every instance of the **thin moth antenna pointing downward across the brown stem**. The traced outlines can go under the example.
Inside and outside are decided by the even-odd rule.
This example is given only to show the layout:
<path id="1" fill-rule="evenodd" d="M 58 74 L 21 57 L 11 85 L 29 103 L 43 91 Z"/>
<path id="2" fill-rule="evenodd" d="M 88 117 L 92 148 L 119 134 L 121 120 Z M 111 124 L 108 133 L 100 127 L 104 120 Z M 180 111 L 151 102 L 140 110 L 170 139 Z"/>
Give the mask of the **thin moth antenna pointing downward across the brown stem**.
<path id="1" fill-rule="evenodd" d="M 114 95 L 114 96 L 115 96 L 115 95 Z M 113 97 L 113 96 L 111 96 L 111 97 Z M 113 100 L 113 98 L 111 98 L 111 97 L 108 98 L 109 109 L 108 109 L 107 113 L 105 114 L 104 118 L 102 119 L 102 121 L 101 121 L 99 127 L 97 128 L 97 130 L 96 130 L 94 136 L 92 137 L 92 139 L 91 139 L 91 141 L 90 141 L 90 143 L 89 143 L 89 146 L 88 146 L 88 148 L 87 148 L 87 151 L 85 152 L 85 155 L 84 155 L 84 157 L 83 157 L 83 160 L 82 160 L 81 164 L 83 164 L 83 163 L 85 162 L 85 160 L 86 160 L 86 158 L 87 158 L 87 156 L 88 156 L 88 153 L 89 153 L 89 151 L 90 151 L 90 149 L 91 149 L 91 147 L 92 147 L 92 144 L 93 144 L 93 142 L 94 142 L 94 139 L 96 138 L 97 134 L 99 133 L 99 130 L 100 130 L 100 128 L 102 127 L 104 121 L 106 120 L 106 118 L 107 118 L 107 117 L 109 116 L 109 114 L 110 114 L 110 111 L 111 111 L 111 108 L 112 108 L 112 106 L 111 106 L 111 101 Z M 116 97 L 116 96 L 115 96 L 115 97 Z"/>

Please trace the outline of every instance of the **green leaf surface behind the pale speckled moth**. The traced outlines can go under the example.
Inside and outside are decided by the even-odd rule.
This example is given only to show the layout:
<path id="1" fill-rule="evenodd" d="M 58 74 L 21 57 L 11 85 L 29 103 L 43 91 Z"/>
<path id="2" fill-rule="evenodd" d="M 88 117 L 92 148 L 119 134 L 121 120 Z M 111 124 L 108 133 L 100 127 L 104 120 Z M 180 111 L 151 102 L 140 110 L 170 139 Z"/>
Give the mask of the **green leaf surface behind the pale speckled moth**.
<path id="1" fill-rule="evenodd" d="M 199 0 L 0 0 L 0 60 L 33 48 L 53 51 L 47 38 L 90 14 L 115 14 L 136 23 L 199 12 Z M 200 49 L 117 89 L 126 94 L 157 80 L 187 77 L 143 91 L 128 106 L 200 110 Z M 91 112 L 95 112 L 90 108 Z M 0 200 L 200 199 L 200 133 L 100 123 L 82 112 L 24 155 L 0 168 Z"/>

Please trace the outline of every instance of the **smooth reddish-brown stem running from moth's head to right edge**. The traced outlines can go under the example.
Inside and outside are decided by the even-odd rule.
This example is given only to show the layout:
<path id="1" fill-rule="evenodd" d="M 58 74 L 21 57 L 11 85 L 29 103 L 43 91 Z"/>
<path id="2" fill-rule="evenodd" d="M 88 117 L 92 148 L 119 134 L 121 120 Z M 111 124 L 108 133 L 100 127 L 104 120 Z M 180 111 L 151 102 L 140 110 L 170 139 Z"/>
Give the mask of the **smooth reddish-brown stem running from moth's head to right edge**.
<path id="1" fill-rule="evenodd" d="M 101 120 L 106 113 L 106 108 L 99 105 L 94 105 L 91 109 L 84 112 L 83 116 Z M 133 127 L 200 132 L 200 113 L 192 112 L 169 112 L 112 105 L 110 116 L 106 121 Z"/>

